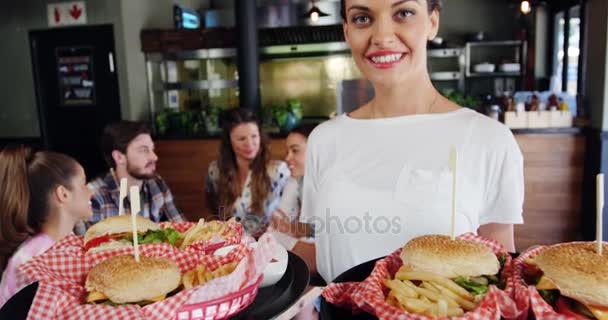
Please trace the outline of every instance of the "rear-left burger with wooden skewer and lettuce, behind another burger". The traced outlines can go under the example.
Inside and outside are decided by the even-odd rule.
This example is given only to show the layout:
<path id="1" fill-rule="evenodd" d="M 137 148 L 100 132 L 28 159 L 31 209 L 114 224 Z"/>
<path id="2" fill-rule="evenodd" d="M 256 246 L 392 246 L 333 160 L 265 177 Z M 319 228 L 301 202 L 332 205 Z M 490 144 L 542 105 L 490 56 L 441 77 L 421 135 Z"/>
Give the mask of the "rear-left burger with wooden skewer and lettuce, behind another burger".
<path id="1" fill-rule="evenodd" d="M 133 245 L 133 226 L 130 215 L 114 216 L 94 224 L 84 235 L 84 249 L 95 252 Z M 161 229 L 152 220 L 136 216 L 139 244 L 169 243 L 177 245 L 179 232 Z"/>

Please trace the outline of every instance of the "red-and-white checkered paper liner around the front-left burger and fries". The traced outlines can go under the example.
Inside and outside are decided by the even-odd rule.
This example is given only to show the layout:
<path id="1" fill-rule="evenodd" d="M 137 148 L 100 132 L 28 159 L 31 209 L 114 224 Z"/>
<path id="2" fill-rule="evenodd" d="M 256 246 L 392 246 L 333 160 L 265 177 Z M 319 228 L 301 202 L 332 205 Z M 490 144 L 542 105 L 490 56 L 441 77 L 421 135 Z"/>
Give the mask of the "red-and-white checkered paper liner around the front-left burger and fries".
<path id="1" fill-rule="evenodd" d="M 166 243 L 142 245 L 139 247 L 140 255 L 172 259 L 182 274 L 203 263 L 215 270 L 223 264 L 240 261 L 230 275 L 144 307 L 83 304 L 86 298 L 84 283 L 89 270 L 110 257 L 133 254 L 133 248 L 86 254 L 82 237 L 74 235 L 66 237 L 19 268 L 18 283 L 39 282 L 28 319 L 171 319 L 181 306 L 210 301 L 255 283 L 272 259 L 276 246 L 270 235 L 263 235 L 257 248 L 240 244 L 226 256 L 179 250 Z"/>

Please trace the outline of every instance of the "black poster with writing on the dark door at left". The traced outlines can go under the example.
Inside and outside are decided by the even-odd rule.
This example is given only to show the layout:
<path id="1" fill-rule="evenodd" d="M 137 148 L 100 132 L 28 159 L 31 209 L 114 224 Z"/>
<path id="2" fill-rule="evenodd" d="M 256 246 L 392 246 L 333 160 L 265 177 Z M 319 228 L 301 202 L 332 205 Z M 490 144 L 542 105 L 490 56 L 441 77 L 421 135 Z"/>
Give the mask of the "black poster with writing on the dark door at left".
<path id="1" fill-rule="evenodd" d="M 93 48 L 57 48 L 56 56 L 60 105 L 94 105 Z"/>

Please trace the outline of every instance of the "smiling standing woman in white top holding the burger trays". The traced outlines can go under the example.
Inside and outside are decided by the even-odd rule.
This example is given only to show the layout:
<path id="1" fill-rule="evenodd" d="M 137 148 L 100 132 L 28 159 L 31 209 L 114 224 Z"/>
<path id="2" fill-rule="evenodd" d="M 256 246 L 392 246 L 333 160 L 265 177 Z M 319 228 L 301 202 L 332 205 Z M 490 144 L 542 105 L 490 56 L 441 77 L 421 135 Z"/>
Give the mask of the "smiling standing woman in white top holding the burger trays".
<path id="1" fill-rule="evenodd" d="M 449 234 L 458 151 L 456 233 L 514 251 L 522 223 L 523 158 L 502 124 L 433 87 L 427 41 L 439 0 L 342 0 L 344 35 L 375 97 L 312 132 L 301 221 L 315 226 L 317 268 L 332 281 L 422 234 Z"/>

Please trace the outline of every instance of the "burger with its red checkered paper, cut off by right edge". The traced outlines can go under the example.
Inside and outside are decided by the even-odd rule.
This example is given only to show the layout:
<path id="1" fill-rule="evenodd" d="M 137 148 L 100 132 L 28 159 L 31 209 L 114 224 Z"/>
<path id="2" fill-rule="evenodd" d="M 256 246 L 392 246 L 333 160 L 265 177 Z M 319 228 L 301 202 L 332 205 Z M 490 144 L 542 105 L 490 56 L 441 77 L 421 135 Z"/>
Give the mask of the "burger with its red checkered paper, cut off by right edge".
<path id="1" fill-rule="evenodd" d="M 520 319 L 608 319 L 608 255 L 595 242 L 567 242 L 523 252 L 511 281 Z M 608 245 L 603 244 L 603 252 Z"/>

